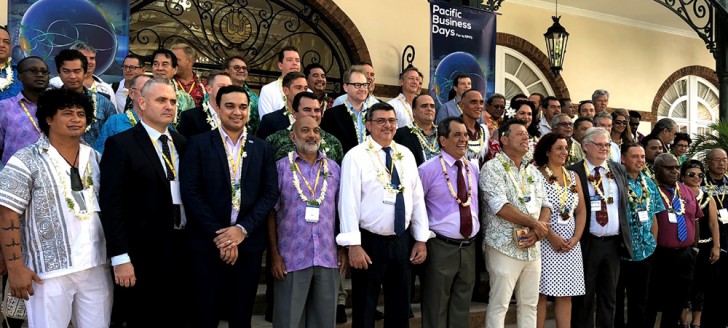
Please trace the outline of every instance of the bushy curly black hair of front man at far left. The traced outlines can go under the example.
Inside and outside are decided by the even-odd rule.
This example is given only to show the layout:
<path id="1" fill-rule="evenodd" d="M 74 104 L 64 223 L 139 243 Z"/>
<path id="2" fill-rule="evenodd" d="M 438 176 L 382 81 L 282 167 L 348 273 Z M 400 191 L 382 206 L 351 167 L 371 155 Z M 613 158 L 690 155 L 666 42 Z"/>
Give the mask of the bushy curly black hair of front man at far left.
<path id="1" fill-rule="evenodd" d="M 78 52 L 78 50 L 72 51 Z M 38 127 L 47 136 L 50 130 L 50 126 L 46 122 L 47 118 L 54 117 L 60 109 L 78 107 L 83 108 L 83 112 L 86 114 L 86 126 L 91 125 L 96 120 L 94 105 L 86 94 L 64 88 L 44 91 L 38 97 L 38 110 L 35 112 Z"/>

